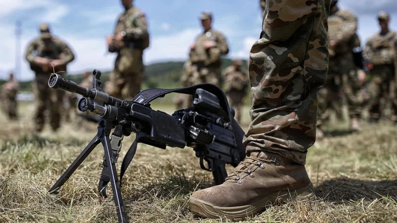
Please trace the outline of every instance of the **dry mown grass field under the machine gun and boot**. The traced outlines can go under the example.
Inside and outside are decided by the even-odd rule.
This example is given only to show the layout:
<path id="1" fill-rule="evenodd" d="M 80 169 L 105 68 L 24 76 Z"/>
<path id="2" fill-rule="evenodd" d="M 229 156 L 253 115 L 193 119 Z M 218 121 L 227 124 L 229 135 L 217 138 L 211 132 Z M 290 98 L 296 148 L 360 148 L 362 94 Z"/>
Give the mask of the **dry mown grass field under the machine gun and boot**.
<path id="1" fill-rule="evenodd" d="M 117 222 L 112 197 L 100 199 L 97 193 L 102 147 L 60 194 L 47 192 L 94 136 L 96 126 L 73 121 L 59 132 L 47 126 L 34 135 L 33 111 L 33 105 L 21 105 L 18 122 L 0 114 L 0 222 Z M 328 137 L 309 150 L 306 165 L 317 200 L 271 207 L 247 222 L 397 222 L 397 128 L 383 123 L 351 133 L 346 124 L 335 123 L 328 130 Z M 121 158 L 132 140 L 124 140 Z M 121 159 L 118 169 L 120 165 Z M 122 188 L 130 222 L 219 222 L 197 219 L 188 210 L 192 193 L 211 183 L 211 173 L 200 169 L 191 148 L 139 145 Z"/>

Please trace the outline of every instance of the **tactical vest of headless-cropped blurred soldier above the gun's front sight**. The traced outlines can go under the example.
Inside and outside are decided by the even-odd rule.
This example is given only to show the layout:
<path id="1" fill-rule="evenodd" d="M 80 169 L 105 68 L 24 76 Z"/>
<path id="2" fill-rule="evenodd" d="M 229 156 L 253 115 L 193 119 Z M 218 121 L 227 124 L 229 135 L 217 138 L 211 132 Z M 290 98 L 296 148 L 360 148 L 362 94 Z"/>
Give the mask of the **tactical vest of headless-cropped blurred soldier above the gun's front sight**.
<path id="1" fill-rule="evenodd" d="M 141 11 L 138 8 L 131 7 L 126 10 L 123 14 L 120 15 L 119 20 L 117 21 L 115 34 L 120 33 L 123 30 L 128 28 L 137 28 L 136 17 L 141 15 Z M 124 39 L 124 46 L 117 46 L 119 49 L 122 48 L 133 48 L 144 50 L 149 47 L 149 36 L 145 36 L 143 39 L 134 40 L 134 39 Z"/>

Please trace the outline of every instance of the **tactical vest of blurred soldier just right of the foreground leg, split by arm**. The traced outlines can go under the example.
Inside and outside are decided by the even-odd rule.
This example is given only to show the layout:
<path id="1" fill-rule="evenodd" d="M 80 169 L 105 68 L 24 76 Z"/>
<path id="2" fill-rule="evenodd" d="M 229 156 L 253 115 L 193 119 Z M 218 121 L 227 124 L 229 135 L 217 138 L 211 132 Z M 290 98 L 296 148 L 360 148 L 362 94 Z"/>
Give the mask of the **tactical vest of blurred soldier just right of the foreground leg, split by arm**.
<path id="1" fill-rule="evenodd" d="M 328 39 L 338 39 L 339 32 L 344 28 L 343 23 L 344 18 L 340 16 L 337 12 L 328 18 Z M 354 48 L 359 46 L 360 40 L 357 34 L 354 34 L 354 36 L 347 42 L 347 44 L 338 45 L 335 49 L 330 46 L 330 58 L 338 54 L 345 54 L 348 52 L 350 53 Z"/>

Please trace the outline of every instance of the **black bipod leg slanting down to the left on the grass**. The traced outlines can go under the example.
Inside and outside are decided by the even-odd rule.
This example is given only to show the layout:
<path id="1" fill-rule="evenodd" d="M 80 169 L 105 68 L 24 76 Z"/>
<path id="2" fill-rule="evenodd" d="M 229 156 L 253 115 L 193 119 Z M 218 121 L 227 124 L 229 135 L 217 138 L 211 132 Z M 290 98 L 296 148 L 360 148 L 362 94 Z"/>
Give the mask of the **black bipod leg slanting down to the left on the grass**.
<path id="1" fill-rule="evenodd" d="M 94 148 L 99 144 L 100 139 L 96 135 L 90 143 L 84 148 L 84 150 L 78 155 L 78 157 L 73 161 L 73 163 L 66 169 L 64 174 L 58 179 L 58 181 L 49 190 L 50 193 L 58 193 L 59 189 L 64 185 L 67 179 L 73 174 L 73 172 L 81 165 L 81 163 L 87 158 L 87 156 L 94 150 Z"/>

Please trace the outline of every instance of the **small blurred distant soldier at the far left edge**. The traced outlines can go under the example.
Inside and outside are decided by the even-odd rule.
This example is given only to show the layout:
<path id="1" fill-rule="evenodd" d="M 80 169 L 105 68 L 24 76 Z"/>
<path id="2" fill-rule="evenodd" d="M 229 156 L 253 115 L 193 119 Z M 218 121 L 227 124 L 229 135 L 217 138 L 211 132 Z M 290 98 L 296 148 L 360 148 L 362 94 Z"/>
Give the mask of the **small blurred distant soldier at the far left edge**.
<path id="1" fill-rule="evenodd" d="M 14 74 L 9 74 L 8 82 L 1 86 L 1 106 L 9 119 L 18 119 L 16 94 L 19 91 L 19 84 L 14 80 Z"/>

